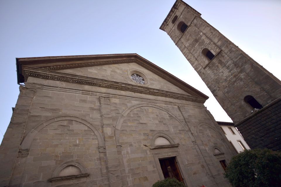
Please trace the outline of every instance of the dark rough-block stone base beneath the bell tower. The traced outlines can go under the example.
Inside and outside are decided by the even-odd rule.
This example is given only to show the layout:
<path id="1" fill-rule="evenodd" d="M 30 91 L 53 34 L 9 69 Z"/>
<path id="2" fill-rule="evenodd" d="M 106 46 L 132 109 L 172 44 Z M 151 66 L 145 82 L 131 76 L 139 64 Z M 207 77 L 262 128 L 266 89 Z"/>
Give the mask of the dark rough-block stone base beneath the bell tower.
<path id="1" fill-rule="evenodd" d="M 251 148 L 281 150 L 281 98 L 235 125 Z"/>

